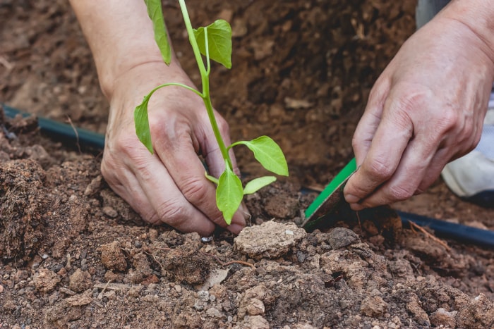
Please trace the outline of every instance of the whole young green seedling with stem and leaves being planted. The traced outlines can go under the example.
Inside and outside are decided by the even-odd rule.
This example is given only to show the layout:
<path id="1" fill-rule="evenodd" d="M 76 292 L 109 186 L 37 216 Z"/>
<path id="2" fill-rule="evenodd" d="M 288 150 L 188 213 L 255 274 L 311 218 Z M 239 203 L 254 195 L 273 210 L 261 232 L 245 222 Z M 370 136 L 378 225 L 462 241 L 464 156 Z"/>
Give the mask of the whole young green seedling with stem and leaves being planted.
<path id="1" fill-rule="evenodd" d="M 164 24 L 161 0 L 145 0 L 147 13 L 149 14 L 153 29 L 155 32 L 155 40 L 161 51 L 163 61 L 167 65 L 171 62 L 171 48 L 168 42 L 167 29 Z M 269 185 L 276 180 L 275 176 L 263 176 L 255 178 L 242 186 L 241 180 L 233 172 L 231 159 L 228 151 L 236 145 L 243 144 L 248 149 L 253 151 L 255 159 L 267 170 L 277 175 L 288 175 L 287 160 L 284 157 L 282 149 L 270 137 L 261 136 L 249 141 L 234 142 L 226 146 L 219 132 L 219 128 L 213 113 L 211 98 L 210 98 L 210 61 L 216 61 L 226 68 L 231 68 L 231 27 L 226 20 L 216 20 L 215 23 L 205 27 L 194 29 L 191 25 L 191 20 L 188 16 L 188 11 L 184 0 L 179 0 L 183 20 L 186 25 L 188 39 L 191 43 L 195 61 L 198 63 L 202 82 L 202 92 L 183 85 L 181 83 L 171 82 L 159 85 L 152 89 L 149 94 L 144 97 L 143 102 L 135 108 L 134 121 L 135 132 L 137 133 L 140 142 L 153 153 L 149 119 L 147 116 L 147 104 L 157 91 L 157 89 L 167 86 L 180 86 L 198 94 L 204 101 L 208 117 L 211 122 L 212 131 L 215 134 L 218 147 L 224 159 L 225 169 L 219 178 L 205 174 L 206 178 L 217 185 L 216 187 L 216 204 L 223 213 L 224 220 L 227 224 L 231 223 L 231 218 L 235 211 L 239 209 L 243 196 L 252 194 L 260 188 Z M 204 56 L 204 57 L 203 57 Z M 205 63 L 204 63 L 205 58 Z"/>

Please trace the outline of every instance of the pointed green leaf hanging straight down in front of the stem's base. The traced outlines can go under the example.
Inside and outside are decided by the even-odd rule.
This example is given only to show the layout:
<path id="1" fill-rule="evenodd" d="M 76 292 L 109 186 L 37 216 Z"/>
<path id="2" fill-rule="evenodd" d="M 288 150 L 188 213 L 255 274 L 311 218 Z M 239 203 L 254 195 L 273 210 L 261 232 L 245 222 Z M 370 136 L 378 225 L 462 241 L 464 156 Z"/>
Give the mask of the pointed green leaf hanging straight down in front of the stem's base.
<path id="1" fill-rule="evenodd" d="M 223 213 L 224 221 L 228 225 L 231 224 L 231 218 L 239 209 L 242 199 L 242 182 L 227 164 L 227 168 L 219 176 L 218 187 L 216 188 L 216 205 L 219 211 Z"/>

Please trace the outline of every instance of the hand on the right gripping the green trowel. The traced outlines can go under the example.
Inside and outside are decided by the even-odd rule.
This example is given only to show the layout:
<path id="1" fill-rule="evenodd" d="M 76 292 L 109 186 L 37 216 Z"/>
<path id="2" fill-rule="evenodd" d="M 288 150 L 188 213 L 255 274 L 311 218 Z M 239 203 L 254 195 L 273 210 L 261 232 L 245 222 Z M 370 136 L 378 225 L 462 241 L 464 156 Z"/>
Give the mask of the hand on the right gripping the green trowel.
<path id="1" fill-rule="evenodd" d="M 494 78 L 494 53 L 445 13 L 412 35 L 370 92 L 353 139 L 359 169 L 344 188 L 354 210 L 426 190 L 474 149 Z"/>

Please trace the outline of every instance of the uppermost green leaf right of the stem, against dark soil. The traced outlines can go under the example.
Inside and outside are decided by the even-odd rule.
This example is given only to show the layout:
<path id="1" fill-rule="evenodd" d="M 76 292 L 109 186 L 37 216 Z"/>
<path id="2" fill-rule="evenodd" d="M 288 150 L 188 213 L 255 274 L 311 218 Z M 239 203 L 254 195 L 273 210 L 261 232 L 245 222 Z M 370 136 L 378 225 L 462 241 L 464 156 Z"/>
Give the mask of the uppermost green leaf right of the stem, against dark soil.
<path id="1" fill-rule="evenodd" d="M 215 20 L 215 23 L 207 27 L 199 27 L 194 30 L 195 39 L 198 42 L 200 54 L 206 56 L 206 42 L 204 30 L 207 29 L 207 48 L 209 56 L 225 68 L 231 68 L 231 27 L 226 20 Z"/>

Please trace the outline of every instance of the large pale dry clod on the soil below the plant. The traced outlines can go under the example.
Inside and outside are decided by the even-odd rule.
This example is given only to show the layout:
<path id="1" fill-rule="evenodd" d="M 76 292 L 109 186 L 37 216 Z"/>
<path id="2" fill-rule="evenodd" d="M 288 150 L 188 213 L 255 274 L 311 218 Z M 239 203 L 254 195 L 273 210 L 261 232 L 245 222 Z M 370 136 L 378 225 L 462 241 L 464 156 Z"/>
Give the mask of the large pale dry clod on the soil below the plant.
<path id="1" fill-rule="evenodd" d="M 262 225 L 244 228 L 234 240 L 234 248 L 253 259 L 275 259 L 296 246 L 306 231 L 294 223 L 267 221 Z"/>

